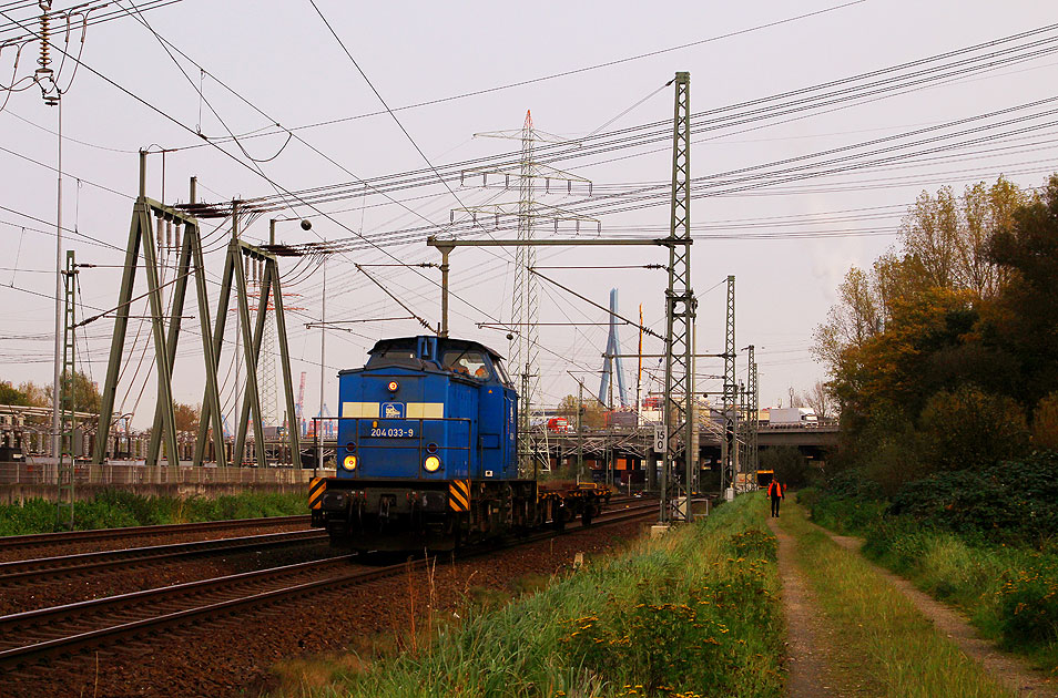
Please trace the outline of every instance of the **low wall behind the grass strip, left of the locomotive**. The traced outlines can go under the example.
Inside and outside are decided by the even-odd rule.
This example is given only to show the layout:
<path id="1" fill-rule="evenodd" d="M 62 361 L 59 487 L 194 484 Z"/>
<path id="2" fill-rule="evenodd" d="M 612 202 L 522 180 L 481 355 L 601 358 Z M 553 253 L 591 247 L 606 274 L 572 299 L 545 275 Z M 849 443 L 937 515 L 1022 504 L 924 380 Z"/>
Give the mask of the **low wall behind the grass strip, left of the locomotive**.
<path id="1" fill-rule="evenodd" d="M 318 471 L 319 476 L 334 471 Z M 215 468 L 204 465 L 154 465 L 142 463 L 79 463 L 75 483 L 88 485 L 138 484 L 301 484 L 308 483 L 312 470 L 294 468 Z M 0 463 L 0 484 L 54 484 L 54 463 Z"/>

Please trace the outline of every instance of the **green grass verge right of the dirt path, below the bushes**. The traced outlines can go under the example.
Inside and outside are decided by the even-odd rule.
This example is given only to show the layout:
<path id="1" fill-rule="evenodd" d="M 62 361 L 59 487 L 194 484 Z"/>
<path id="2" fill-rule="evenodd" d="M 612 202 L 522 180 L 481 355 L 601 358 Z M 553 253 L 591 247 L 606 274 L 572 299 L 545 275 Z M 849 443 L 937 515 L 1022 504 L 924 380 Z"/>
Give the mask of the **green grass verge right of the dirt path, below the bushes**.
<path id="1" fill-rule="evenodd" d="M 1058 674 L 1058 553 L 886 515 L 878 502 L 810 493 L 812 519 L 865 540 L 864 555 L 960 608 L 1004 649 Z"/>

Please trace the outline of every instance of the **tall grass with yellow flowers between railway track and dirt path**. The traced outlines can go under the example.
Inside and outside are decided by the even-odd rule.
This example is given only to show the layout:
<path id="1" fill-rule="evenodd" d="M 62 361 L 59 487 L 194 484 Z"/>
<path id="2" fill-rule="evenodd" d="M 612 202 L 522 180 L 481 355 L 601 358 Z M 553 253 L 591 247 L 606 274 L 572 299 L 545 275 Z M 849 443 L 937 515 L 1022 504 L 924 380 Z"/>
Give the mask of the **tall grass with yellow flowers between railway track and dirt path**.
<path id="1" fill-rule="evenodd" d="M 739 497 L 502 608 L 471 612 L 417 653 L 346 661 L 328 686 L 284 695 L 777 698 L 782 613 L 763 513 L 763 497 Z"/>

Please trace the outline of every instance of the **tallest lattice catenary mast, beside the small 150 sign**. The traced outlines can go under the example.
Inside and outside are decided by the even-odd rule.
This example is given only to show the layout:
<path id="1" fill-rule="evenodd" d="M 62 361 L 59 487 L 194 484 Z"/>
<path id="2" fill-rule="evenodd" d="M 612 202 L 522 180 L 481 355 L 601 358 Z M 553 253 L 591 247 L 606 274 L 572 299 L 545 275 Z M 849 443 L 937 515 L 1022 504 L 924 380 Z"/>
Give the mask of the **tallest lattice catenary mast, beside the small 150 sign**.
<path id="1" fill-rule="evenodd" d="M 668 435 L 661 470 L 661 523 L 676 519 L 670 509 L 679 496 L 676 463 L 686 465 L 683 492 L 686 506 L 681 516 L 690 520 L 690 492 L 696 454 L 689 453 L 694 441 L 694 314 L 698 301 L 691 287 L 691 74 L 679 72 L 672 129 L 672 205 L 669 219 L 669 288 L 665 291 L 665 390 L 664 417 Z M 682 440 L 681 440 L 682 437 Z"/>

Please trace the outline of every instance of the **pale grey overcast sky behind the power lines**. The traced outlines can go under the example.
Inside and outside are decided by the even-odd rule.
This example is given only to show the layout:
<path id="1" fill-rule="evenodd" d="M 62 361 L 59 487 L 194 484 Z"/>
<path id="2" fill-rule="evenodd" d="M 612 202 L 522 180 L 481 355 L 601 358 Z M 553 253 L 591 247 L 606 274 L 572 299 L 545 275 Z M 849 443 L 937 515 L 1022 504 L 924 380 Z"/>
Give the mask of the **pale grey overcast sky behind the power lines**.
<path id="1" fill-rule="evenodd" d="M 1056 129 L 1048 126 L 1055 117 L 1045 114 L 1052 104 L 936 129 L 1054 97 L 1058 58 L 1046 42 L 1035 49 L 1018 49 L 1020 53 L 997 54 L 991 59 L 996 65 L 988 70 L 983 69 L 989 62 L 984 60 L 974 64 L 977 70 L 948 69 L 952 74 L 943 80 L 937 79 L 942 63 L 924 64 L 917 69 L 925 72 L 916 84 L 894 90 L 889 82 L 872 94 L 857 93 L 855 99 L 837 95 L 833 103 L 812 109 L 781 110 L 780 104 L 789 105 L 797 99 L 793 96 L 762 103 L 763 111 L 753 121 L 733 115 L 755 107 L 730 109 L 1044 28 L 1056 17 L 1052 3 L 1040 0 L 864 0 L 844 6 L 840 0 L 649 4 L 315 1 L 352 60 L 309 0 L 182 0 L 144 12 L 142 19 L 175 47 L 169 51 L 131 16 L 119 12 L 110 21 L 88 27 L 83 65 L 74 73 L 74 63 L 68 60 L 59 76 L 65 90 L 63 224 L 69 230 L 63 247 L 77 250 L 79 261 L 101 265 L 80 274 L 85 315 L 116 302 L 120 269 L 113 265 L 121 264 L 128 239 L 139 148 L 172 151 L 164 158 L 164 192 L 163 158 L 156 154 L 150 157 L 149 195 L 164 197 L 166 203 L 186 201 L 192 175 L 199 177 L 200 197 L 208 202 L 275 196 L 276 186 L 302 192 L 418 171 L 428 164 L 441 168 L 517 152 L 517 141 L 474 134 L 517 131 L 527 110 L 531 110 L 540 131 L 587 147 L 594 142 L 587 136 L 600 130 L 607 133 L 671 120 L 673 93 L 664 85 L 676 71 L 689 71 L 692 112 L 723 110 L 715 116 L 700 116 L 698 123 L 728 119 L 716 122 L 722 127 L 695 135 L 695 177 L 857 146 L 843 153 L 859 158 L 846 164 L 861 166 L 795 181 L 761 178 L 759 170 L 726 174 L 703 179 L 702 195 L 692 203 L 699 351 L 723 350 L 723 280 L 734 275 L 737 347 L 756 347 L 762 407 L 775 406 L 780 400 L 785 404 L 790 388 L 806 390 L 823 378 L 822 367 L 810 355 L 812 331 L 834 302 L 837 284 L 851 265 L 869 265 L 896 244 L 901 218 L 923 189 L 935 192 L 949 184 L 960 192 L 973 182 L 993 182 L 1000 173 L 1023 186 L 1038 186 L 1047 174 L 1058 170 Z M 72 4 L 57 0 L 53 9 Z M 14 21 L 27 22 L 35 31 L 35 6 L 0 2 L 0 41 L 24 33 Z M 132 4 L 128 0 L 112 2 L 95 16 L 121 7 L 131 9 Z M 798 16 L 805 17 L 795 19 Z M 63 25 L 53 35 L 60 45 L 65 40 L 64 30 Z M 1058 31 L 1050 30 L 994 49 L 958 54 L 944 64 L 1056 37 Z M 79 50 L 80 38 L 80 28 L 73 25 L 71 52 Z M 674 49 L 684 44 L 691 45 Z M 54 330 L 54 305 L 49 298 L 54 294 L 57 109 L 45 106 L 40 90 L 26 80 L 37 69 L 37 45 L 24 47 L 17 68 L 16 54 L 16 45 L 0 51 L 2 80 L 9 84 L 13 74 L 21 81 L 18 86 L 30 89 L 0 95 L 0 100 L 8 100 L 0 111 L 0 379 L 48 383 Z M 1010 61 L 1015 55 L 1019 60 Z M 1003 62 L 1004 57 L 1007 62 Z M 52 68 L 58 68 L 61 53 L 53 51 L 52 58 Z M 881 73 L 877 80 L 893 75 Z M 549 79 L 537 80 L 542 78 Z M 853 84 L 862 86 L 865 82 Z M 396 119 L 386 113 L 376 90 L 389 107 L 396 109 Z M 446 100 L 480 91 L 488 92 Z M 424 102 L 428 104 L 397 109 Z M 1000 123 L 1016 119 L 1026 121 Z M 276 129 L 276 124 L 294 127 L 321 122 L 333 123 L 297 130 L 297 137 Z M 956 134 L 983 125 L 988 127 L 976 134 Z M 918 136 L 863 145 L 929 129 Z M 586 203 L 589 192 L 583 183 L 576 184 L 571 194 L 564 184 L 552 183 L 548 193 L 539 191 L 542 184 L 539 186 L 540 204 L 617 207 L 613 201 L 628 197 L 641 186 L 664 188 L 671 176 L 671 126 L 661 130 L 664 137 L 639 147 L 573 154 L 553 162 L 555 167 L 590 181 L 592 201 Z M 231 133 L 256 137 L 240 138 L 238 147 L 226 138 Z M 936 135 L 947 140 L 908 145 Z M 966 143 L 970 140 L 974 143 Z M 885 155 L 863 155 L 887 144 L 904 147 Z M 574 150 L 566 147 L 567 153 Z M 899 157 L 862 166 L 866 160 L 888 156 Z M 826 158 L 798 162 L 822 160 Z M 756 178 L 745 179 L 742 186 L 732 184 L 724 189 L 718 182 L 749 175 Z M 345 196 L 316 209 L 297 205 L 264 214 L 252 222 L 246 237 L 265 240 L 269 217 L 311 216 L 311 232 L 302 230 L 296 220 L 281 222 L 277 237 L 286 243 L 359 240 L 357 249 L 335 255 L 327 264 L 327 319 L 404 316 L 353 264 L 438 261 L 436 250 L 425 245 L 425 234 L 410 229 L 466 218 L 462 213 L 452 214 L 452 209 L 517 202 L 517 186 L 505 191 L 501 175 L 495 175 L 488 186 L 481 186 L 480 175 L 475 175 L 461 186 L 455 182 L 449 191 L 426 176 L 419 186 L 388 197 Z M 603 235 L 664 235 L 669 225 L 664 196 L 651 206 L 637 203 L 628 208 L 632 209 L 600 217 Z M 513 237 L 512 230 L 492 233 L 486 225 L 482 222 L 481 229 L 470 237 Z M 210 250 L 205 263 L 212 279 L 221 274 L 227 226 L 230 222 L 225 220 L 203 222 Z M 393 235 L 400 232 L 406 233 Z M 598 232 L 597 224 L 586 223 L 580 234 Z M 573 234 L 572 224 L 561 224 L 560 237 Z M 555 229 L 545 223 L 538 235 L 555 235 Z M 653 248 L 546 248 L 537 264 L 588 267 L 665 261 L 663 250 Z M 452 335 L 508 352 L 505 331 L 479 329 L 477 324 L 510 320 L 512 267 L 513 250 L 460 249 L 452 255 Z M 311 260 L 284 258 L 282 268 L 286 302 L 296 308 L 287 321 L 295 391 L 305 371 L 306 412 L 315 413 L 319 331 L 305 329 L 304 324 L 321 317 L 323 274 Z M 602 305 L 607 304 L 609 289 L 616 287 L 623 315 L 637 316 L 642 304 L 644 324 L 664 328 L 663 271 L 541 271 Z M 369 268 L 369 274 L 417 315 L 431 324 L 438 321 L 436 269 L 384 266 Z M 166 278 L 172 275 L 167 271 Z M 141 275 L 140 288 L 142 284 Z M 211 292 L 215 290 L 211 283 Z M 133 315 L 142 316 L 144 304 L 138 302 Z M 586 380 L 589 391 L 596 391 L 606 348 L 607 330 L 601 325 L 606 314 L 548 281 L 540 283 L 539 308 L 541 322 L 579 324 L 540 330 L 543 401 L 553 406 L 576 392 L 567 371 L 581 371 L 577 374 Z M 196 316 L 191 301 L 184 315 Z M 230 322 L 230 328 L 233 325 Z M 195 403 L 202 399 L 203 382 L 200 338 L 194 333 L 197 320 L 185 320 L 184 326 L 189 331 L 182 336 L 174 396 L 179 401 Z M 382 337 L 414 335 L 421 329 L 414 320 L 348 327 L 349 332 L 328 333 L 324 371 L 332 411 L 338 370 L 363 365 L 366 350 Z M 103 319 L 87 326 L 81 335 L 78 358 L 83 370 L 100 383 L 111 331 L 112 321 Z M 115 414 L 135 412 L 138 425 L 150 422 L 154 403 L 150 371 L 153 352 L 144 352 L 146 337 L 147 326 L 133 319 L 115 406 Z M 632 328 L 622 330 L 621 340 L 628 351 L 634 351 L 638 337 Z M 228 410 L 234 404 L 232 349 L 232 343 L 225 346 L 220 370 L 227 387 L 224 399 Z M 645 339 L 645 351 L 661 349 L 657 340 Z M 737 366 L 744 379 L 744 353 Z M 661 376 L 657 360 L 647 360 L 645 367 L 650 371 L 644 373 L 644 392 L 659 389 L 652 379 Z M 627 360 L 624 368 L 627 382 L 634 389 L 634 361 Z M 699 372 L 705 376 L 701 390 L 719 389 L 720 381 L 708 377 L 722 372 L 720 362 L 704 360 Z"/>

